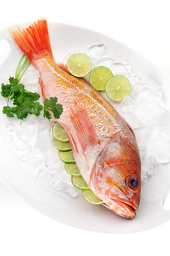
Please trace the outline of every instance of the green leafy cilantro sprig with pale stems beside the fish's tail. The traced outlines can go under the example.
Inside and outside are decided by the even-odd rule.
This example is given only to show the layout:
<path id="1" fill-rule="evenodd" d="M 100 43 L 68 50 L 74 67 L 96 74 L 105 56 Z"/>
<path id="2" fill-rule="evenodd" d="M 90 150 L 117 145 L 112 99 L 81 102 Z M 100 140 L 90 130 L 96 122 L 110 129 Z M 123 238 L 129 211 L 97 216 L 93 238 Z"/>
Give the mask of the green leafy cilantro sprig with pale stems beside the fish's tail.
<path id="1" fill-rule="evenodd" d="M 40 115 L 40 112 L 43 110 L 44 118 L 48 120 L 51 119 L 51 111 L 55 118 L 60 118 L 62 113 L 62 105 L 57 104 L 57 97 L 50 97 L 50 99 L 44 100 L 44 106 L 38 102 L 40 95 L 37 92 L 28 92 L 25 90 L 23 84 L 20 84 L 20 79 L 28 69 L 30 61 L 25 57 L 23 64 L 21 62 L 24 58 L 22 55 L 18 67 L 15 73 L 15 78 L 9 78 L 9 84 L 2 84 L 1 95 L 2 97 L 7 98 L 7 106 L 3 107 L 2 113 L 6 114 L 8 117 L 17 117 L 18 119 L 27 118 L 28 115 L 34 114 L 35 116 Z M 20 67 L 21 65 L 21 67 Z M 14 107 L 8 105 L 9 100 L 13 100 Z"/>

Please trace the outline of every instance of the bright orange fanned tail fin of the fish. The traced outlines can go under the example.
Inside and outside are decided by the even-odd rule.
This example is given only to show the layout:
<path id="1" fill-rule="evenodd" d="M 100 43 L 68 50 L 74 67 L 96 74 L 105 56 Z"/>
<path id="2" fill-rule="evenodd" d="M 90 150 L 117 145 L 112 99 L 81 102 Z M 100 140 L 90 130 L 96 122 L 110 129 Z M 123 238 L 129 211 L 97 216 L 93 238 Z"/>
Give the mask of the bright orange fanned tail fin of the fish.
<path id="1" fill-rule="evenodd" d="M 8 28 L 10 35 L 30 62 L 46 54 L 52 56 L 47 20 L 40 18 L 28 28 L 13 26 Z"/>

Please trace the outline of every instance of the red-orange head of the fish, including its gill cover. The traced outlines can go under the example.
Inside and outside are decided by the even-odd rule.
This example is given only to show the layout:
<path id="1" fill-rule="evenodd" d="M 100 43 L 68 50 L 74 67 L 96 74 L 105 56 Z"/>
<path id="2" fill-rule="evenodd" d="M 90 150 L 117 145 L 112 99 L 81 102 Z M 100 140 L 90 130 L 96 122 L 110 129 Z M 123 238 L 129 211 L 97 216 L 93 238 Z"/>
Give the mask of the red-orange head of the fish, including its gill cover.
<path id="1" fill-rule="evenodd" d="M 116 135 L 98 158 L 93 182 L 107 208 L 125 218 L 134 218 L 141 187 L 138 146 Z"/>

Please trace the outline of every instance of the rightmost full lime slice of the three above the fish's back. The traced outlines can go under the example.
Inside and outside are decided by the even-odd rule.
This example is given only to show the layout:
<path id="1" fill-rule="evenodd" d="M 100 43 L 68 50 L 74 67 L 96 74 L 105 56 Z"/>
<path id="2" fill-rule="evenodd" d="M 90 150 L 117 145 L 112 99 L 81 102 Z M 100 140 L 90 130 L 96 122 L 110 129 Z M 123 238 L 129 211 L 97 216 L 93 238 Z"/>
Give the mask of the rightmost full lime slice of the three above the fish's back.
<path id="1" fill-rule="evenodd" d="M 122 76 L 112 77 L 106 84 L 106 94 L 113 101 L 121 101 L 130 95 L 131 86 L 129 80 Z"/>

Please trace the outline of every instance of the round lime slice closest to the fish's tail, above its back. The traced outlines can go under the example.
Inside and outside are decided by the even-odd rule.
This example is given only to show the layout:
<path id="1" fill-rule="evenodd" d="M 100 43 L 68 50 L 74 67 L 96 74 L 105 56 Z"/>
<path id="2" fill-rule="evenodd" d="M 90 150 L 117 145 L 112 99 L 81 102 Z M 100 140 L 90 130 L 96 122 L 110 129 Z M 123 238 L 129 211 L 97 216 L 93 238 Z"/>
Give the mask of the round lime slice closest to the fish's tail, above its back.
<path id="1" fill-rule="evenodd" d="M 72 54 L 67 59 L 67 69 L 75 77 L 85 77 L 91 67 L 91 61 L 85 54 Z"/>

